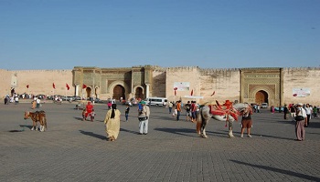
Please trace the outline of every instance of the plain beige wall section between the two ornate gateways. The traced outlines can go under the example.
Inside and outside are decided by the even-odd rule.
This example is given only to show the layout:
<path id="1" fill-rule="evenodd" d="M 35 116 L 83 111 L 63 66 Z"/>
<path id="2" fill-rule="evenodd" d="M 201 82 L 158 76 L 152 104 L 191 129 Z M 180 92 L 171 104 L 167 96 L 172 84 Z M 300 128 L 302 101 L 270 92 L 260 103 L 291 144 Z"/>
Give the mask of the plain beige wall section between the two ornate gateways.
<path id="1" fill-rule="evenodd" d="M 175 82 L 189 82 L 189 90 L 174 92 Z M 189 98 L 186 96 L 204 96 Z M 215 93 L 213 95 L 213 93 Z M 212 96 L 211 96 L 212 95 Z M 170 101 L 181 99 L 184 103 L 195 100 L 200 104 L 223 103 L 240 98 L 240 72 L 238 69 L 201 69 L 196 66 L 170 67 L 166 69 L 166 97 Z"/>

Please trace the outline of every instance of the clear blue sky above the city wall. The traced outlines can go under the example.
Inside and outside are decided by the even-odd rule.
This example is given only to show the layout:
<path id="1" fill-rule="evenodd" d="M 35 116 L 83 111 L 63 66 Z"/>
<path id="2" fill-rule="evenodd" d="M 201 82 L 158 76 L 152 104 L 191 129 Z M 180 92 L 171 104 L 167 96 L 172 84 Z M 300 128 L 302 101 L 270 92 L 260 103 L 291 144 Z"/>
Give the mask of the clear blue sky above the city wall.
<path id="1" fill-rule="evenodd" d="M 320 66 L 320 0 L 0 0 L 0 69 Z"/>

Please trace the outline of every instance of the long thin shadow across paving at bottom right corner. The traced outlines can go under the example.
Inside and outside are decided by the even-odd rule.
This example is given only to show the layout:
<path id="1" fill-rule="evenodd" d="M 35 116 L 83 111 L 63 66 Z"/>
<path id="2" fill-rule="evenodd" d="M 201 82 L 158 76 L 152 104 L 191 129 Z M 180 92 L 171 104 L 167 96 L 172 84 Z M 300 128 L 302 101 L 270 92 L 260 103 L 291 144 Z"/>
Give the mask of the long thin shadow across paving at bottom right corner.
<path id="1" fill-rule="evenodd" d="M 304 178 L 306 180 L 311 180 L 311 181 L 320 181 L 319 177 L 313 177 L 313 176 L 310 176 L 310 175 L 305 175 L 305 174 L 293 172 L 293 171 L 290 171 L 290 170 L 285 170 L 285 169 L 276 168 L 276 167 L 267 167 L 267 166 L 262 166 L 262 165 L 254 165 L 254 164 L 242 162 L 242 161 L 239 161 L 239 160 L 230 160 L 230 161 L 234 162 L 234 163 L 237 163 L 237 164 L 240 164 L 240 165 L 245 165 L 245 166 L 250 166 L 250 167 L 257 167 L 257 168 L 261 168 L 261 169 L 264 169 L 264 170 L 269 170 L 269 171 L 273 171 L 273 172 L 276 172 L 276 173 L 289 175 L 289 176 L 292 176 L 292 177 L 300 177 L 300 178 Z"/>

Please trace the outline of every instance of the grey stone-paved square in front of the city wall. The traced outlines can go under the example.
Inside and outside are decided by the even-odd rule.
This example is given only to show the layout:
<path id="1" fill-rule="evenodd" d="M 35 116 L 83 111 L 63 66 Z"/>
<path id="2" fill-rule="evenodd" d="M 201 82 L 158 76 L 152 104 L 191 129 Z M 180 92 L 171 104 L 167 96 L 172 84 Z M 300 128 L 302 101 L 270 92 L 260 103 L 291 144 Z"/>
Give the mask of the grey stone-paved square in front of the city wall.
<path id="1" fill-rule="evenodd" d="M 106 141 L 105 105 L 94 122 L 81 121 L 75 104 L 43 104 L 48 131 L 30 131 L 31 104 L 0 105 L 0 181 L 320 181 L 320 119 L 294 141 L 294 125 L 268 110 L 253 115 L 252 137 L 228 138 L 225 123 L 210 120 L 208 138 L 195 124 L 152 106 L 149 134 L 137 135 L 136 108 Z M 123 113 L 124 106 L 118 106 Z M 185 116 L 182 116 L 183 118 Z M 24 130 L 23 130 L 24 129 Z"/>

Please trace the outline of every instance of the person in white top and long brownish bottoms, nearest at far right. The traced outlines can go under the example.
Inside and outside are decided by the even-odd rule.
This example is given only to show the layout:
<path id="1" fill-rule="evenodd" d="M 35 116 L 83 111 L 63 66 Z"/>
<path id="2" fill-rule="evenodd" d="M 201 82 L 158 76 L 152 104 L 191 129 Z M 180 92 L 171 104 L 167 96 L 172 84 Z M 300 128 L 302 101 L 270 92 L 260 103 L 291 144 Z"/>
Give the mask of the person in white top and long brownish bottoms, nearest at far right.
<path id="1" fill-rule="evenodd" d="M 304 124 L 305 124 L 305 118 L 306 118 L 306 113 L 303 108 L 302 103 L 298 103 L 296 107 L 296 116 L 295 116 L 295 134 L 296 134 L 296 139 L 297 141 L 303 141 L 304 140 Z"/>

